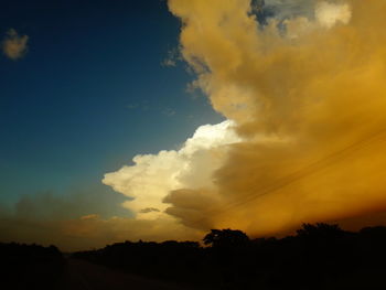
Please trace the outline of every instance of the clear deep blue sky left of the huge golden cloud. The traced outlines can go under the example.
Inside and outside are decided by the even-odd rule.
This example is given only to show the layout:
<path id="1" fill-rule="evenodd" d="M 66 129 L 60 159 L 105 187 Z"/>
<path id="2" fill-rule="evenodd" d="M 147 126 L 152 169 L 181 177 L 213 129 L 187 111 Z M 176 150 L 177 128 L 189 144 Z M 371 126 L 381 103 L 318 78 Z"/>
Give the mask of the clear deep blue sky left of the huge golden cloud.
<path id="1" fill-rule="evenodd" d="M 3 1 L 1 36 L 11 28 L 29 50 L 0 57 L 1 203 L 106 194 L 104 173 L 222 119 L 185 92 L 183 63 L 161 65 L 180 29 L 165 1 Z"/>

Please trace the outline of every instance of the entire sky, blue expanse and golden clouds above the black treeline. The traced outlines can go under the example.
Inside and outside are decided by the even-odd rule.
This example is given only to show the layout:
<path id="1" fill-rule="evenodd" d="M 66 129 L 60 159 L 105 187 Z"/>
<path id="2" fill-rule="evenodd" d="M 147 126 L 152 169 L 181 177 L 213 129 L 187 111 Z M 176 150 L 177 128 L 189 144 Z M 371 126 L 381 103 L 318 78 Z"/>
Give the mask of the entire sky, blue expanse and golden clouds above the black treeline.
<path id="1" fill-rule="evenodd" d="M 383 0 L 12 1 L 1 239 L 386 224 Z"/>

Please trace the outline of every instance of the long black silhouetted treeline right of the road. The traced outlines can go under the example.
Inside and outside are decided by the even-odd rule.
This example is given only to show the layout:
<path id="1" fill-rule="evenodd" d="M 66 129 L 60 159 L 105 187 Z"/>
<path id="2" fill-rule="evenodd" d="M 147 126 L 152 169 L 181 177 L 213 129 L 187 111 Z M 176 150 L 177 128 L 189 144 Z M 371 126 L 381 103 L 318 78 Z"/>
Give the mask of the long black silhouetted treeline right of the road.
<path id="1" fill-rule="evenodd" d="M 212 229 L 203 241 L 125 241 L 74 257 L 208 289 L 386 289 L 386 227 L 305 224 L 281 239 Z"/>

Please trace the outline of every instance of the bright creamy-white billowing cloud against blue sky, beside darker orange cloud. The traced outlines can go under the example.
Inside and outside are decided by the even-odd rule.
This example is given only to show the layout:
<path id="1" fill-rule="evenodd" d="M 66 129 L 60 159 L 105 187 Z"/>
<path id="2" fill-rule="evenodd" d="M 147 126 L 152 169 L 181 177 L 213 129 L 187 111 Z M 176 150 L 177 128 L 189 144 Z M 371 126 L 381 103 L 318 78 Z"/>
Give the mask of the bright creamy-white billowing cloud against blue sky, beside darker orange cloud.
<path id="1" fill-rule="evenodd" d="M 133 165 L 105 174 L 103 183 L 133 197 L 124 206 L 135 212 L 137 219 L 165 216 L 163 198 L 171 191 L 213 185 L 212 174 L 224 162 L 226 144 L 240 141 L 233 126 L 229 120 L 201 126 L 180 150 L 136 155 Z"/>

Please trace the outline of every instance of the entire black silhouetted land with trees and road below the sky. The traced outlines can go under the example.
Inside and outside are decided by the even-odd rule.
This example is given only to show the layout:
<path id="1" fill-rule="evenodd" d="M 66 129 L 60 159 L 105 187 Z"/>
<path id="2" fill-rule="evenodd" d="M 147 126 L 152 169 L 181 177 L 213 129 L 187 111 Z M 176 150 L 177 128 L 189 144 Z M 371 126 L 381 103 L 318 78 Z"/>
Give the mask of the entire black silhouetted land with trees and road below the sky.
<path id="1" fill-rule="evenodd" d="M 66 256 L 0 243 L 0 290 L 386 290 L 386 227 L 304 225 L 282 239 L 213 229 L 203 241 L 125 241 Z"/>

